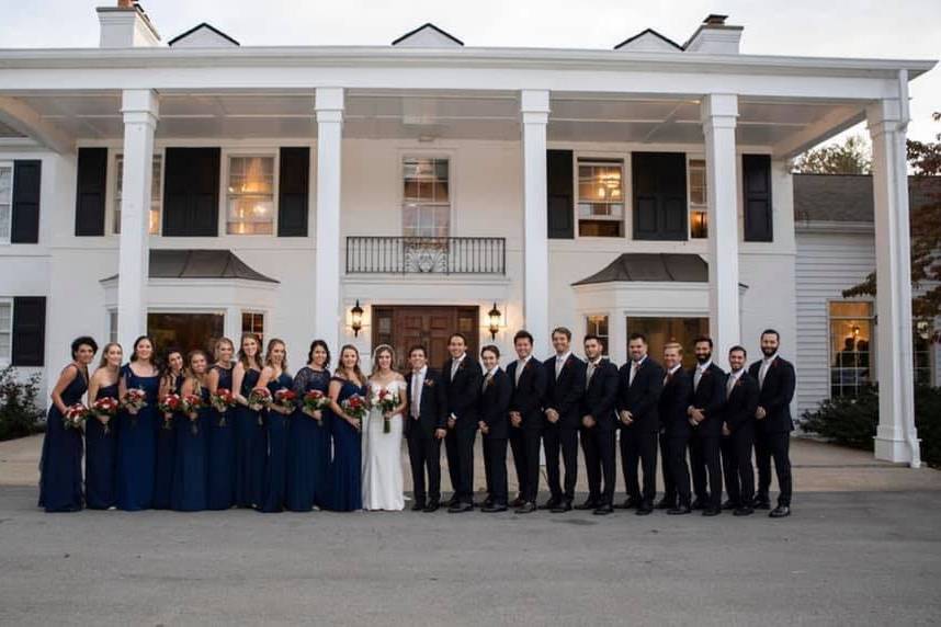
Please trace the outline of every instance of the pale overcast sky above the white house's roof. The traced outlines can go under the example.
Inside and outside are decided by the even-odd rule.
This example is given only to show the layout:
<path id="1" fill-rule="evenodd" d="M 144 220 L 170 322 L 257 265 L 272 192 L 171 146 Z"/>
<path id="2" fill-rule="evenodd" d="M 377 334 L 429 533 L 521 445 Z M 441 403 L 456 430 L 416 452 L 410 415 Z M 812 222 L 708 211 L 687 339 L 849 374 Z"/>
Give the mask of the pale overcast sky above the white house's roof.
<path id="1" fill-rule="evenodd" d="M 0 0 L 0 48 L 98 45 L 116 0 Z M 163 41 L 208 22 L 242 45 L 385 45 L 433 22 L 467 46 L 612 48 L 650 27 L 682 44 L 708 13 L 745 26 L 741 52 L 941 59 L 941 0 L 144 0 Z M 941 68 L 910 83 L 909 137 L 941 123 Z M 862 133 L 862 127 L 851 132 Z"/>

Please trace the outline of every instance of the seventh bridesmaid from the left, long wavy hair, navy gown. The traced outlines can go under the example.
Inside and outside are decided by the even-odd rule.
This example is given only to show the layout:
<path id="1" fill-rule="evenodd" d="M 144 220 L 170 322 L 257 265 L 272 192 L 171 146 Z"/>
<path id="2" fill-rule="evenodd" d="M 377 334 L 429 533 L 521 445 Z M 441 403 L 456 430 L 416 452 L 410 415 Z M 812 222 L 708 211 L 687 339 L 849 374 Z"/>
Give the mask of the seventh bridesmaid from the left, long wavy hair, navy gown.
<path id="1" fill-rule="evenodd" d="M 248 397 L 261 376 L 259 352 L 261 341 L 254 333 L 241 337 L 238 362 L 233 368 L 233 395 L 236 399 L 236 504 L 239 508 L 256 508 L 261 503 L 264 482 L 264 461 L 268 443 L 260 413 L 248 407 Z"/>

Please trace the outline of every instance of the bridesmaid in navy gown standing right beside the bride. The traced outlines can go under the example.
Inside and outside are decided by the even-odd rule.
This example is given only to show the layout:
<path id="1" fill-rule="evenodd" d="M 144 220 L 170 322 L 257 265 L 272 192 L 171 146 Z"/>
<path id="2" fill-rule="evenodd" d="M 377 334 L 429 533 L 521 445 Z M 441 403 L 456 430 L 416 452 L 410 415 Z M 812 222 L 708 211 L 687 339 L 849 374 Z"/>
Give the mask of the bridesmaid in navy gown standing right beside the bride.
<path id="1" fill-rule="evenodd" d="M 347 344 L 340 351 L 340 365 L 330 380 L 333 459 L 329 468 L 330 509 L 353 512 L 363 509 L 362 424 L 347 415 L 341 403 L 353 395 L 366 397 L 366 379 L 360 371 L 360 352 Z"/>

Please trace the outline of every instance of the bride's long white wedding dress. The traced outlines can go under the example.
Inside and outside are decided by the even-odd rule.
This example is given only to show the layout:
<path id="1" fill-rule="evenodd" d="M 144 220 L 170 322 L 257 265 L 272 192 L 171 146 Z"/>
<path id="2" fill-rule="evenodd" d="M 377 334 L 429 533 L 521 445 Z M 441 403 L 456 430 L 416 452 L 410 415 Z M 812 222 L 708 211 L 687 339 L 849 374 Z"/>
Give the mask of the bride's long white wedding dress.
<path id="1" fill-rule="evenodd" d="M 383 386 L 370 381 L 370 397 Z M 405 398 L 405 381 L 392 381 L 384 386 Z M 401 470 L 400 413 L 392 417 L 389 433 L 383 432 L 383 413 L 373 408 L 363 422 L 363 509 L 400 511 L 405 509 L 404 478 Z"/>

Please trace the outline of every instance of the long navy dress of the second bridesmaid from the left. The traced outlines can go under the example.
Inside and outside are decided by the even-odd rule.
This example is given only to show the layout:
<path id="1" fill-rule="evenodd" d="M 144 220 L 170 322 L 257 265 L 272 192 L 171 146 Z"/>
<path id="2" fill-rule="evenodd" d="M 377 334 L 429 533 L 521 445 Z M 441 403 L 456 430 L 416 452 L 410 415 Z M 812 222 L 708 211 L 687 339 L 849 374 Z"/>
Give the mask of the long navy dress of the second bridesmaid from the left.
<path id="1" fill-rule="evenodd" d="M 117 381 L 98 388 L 94 400 L 117 400 Z M 104 425 L 93 415 L 84 423 L 84 501 L 90 510 L 106 510 L 117 504 L 114 470 L 117 467 L 117 417 Z"/>

